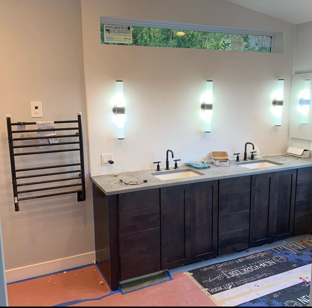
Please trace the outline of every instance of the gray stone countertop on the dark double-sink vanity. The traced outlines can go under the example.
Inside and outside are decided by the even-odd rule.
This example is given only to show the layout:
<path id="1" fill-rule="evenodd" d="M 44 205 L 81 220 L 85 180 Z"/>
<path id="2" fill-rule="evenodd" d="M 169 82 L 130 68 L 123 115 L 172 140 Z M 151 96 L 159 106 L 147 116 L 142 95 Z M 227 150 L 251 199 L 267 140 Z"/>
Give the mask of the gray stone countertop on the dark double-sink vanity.
<path id="1" fill-rule="evenodd" d="M 132 174 L 138 176 L 141 179 L 141 182 L 144 179 L 147 180 L 147 183 L 143 183 L 140 185 L 120 184 L 119 183 L 120 179 L 124 180 L 127 183 L 129 181 L 138 180 L 134 176 L 125 175 L 124 173 L 118 173 L 117 177 L 114 176 L 113 174 L 95 175 L 91 176 L 91 180 L 106 195 L 114 195 L 118 193 L 129 193 L 133 191 L 151 188 L 198 183 L 210 180 L 219 180 L 223 178 L 234 178 L 244 175 L 260 174 L 272 171 L 282 171 L 312 166 L 312 158 L 285 157 L 284 155 L 287 154 L 268 155 L 263 156 L 262 158 L 255 159 L 253 161 L 248 160 L 247 162 L 243 162 L 243 160 L 241 159 L 240 163 L 236 163 L 235 160 L 230 160 L 229 166 L 221 166 L 221 167 L 216 167 L 214 164 L 210 164 L 210 168 L 196 168 L 190 165 L 181 165 L 179 166 L 179 169 L 173 169 L 173 167 L 169 167 L 170 168 L 169 171 L 164 170 L 164 168 L 161 168 L 161 171 L 158 172 L 156 171 L 156 169 L 131 171 Z M 251 164 L 253 162 L 261 162 L 263 160 L 272 163 L 279 163 L 279 165 L 257 169 L 248 169 L 238 165 L 242 163 Z M 197 172 L 202 175 L 172 180 L 160 180 L 153 175 L 153 174 L 157 175 L 157 174 L 183 172 L 183 170 L 185 169 L 189 169 L 190 171 Z"/>

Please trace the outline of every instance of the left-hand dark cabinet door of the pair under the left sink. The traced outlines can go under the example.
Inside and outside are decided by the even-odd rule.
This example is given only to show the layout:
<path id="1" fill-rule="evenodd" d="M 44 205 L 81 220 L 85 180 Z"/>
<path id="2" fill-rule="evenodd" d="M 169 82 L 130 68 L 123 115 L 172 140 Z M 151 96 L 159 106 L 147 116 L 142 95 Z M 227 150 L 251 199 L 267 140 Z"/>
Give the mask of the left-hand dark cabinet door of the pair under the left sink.
<path id="1" fill-rule="evenodd" d="M 190 263 L 190 184 L 160 189 L 161 267 Z"/>

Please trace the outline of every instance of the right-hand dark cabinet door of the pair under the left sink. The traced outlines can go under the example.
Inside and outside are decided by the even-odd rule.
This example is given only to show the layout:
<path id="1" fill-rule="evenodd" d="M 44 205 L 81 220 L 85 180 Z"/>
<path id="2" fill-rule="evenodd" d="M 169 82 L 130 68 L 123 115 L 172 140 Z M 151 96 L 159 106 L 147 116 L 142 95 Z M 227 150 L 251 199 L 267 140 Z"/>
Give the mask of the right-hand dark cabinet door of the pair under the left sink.
<path id="1" fill-rule="evenodd" d="M 218 181 L 191 184 L 191 262 L 217 256 Z"/>

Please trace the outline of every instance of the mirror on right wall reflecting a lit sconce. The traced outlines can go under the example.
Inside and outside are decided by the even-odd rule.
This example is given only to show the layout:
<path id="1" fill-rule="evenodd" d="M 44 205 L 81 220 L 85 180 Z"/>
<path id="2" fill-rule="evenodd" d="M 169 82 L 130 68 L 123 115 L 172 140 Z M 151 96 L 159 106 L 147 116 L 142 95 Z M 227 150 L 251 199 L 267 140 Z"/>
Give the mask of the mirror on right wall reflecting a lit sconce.
<path id="1" fill-rule="evenodd" d="M 291 138 L 312 140 L 312 106 L 310 103 L 312 73 L 295 74 L 292 80 Z"/>

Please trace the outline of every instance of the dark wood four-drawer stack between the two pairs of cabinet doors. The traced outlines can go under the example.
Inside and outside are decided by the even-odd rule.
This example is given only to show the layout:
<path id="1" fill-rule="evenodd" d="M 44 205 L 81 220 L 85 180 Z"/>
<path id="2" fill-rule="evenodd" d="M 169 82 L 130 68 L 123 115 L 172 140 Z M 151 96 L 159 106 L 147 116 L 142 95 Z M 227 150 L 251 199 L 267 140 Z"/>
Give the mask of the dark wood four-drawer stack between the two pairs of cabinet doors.
<path id="1" fill-rule="evenodd" d="M 219 255 L 249 246 L 250 187 L 250 176 L 219 180 Z"/>

